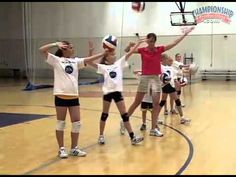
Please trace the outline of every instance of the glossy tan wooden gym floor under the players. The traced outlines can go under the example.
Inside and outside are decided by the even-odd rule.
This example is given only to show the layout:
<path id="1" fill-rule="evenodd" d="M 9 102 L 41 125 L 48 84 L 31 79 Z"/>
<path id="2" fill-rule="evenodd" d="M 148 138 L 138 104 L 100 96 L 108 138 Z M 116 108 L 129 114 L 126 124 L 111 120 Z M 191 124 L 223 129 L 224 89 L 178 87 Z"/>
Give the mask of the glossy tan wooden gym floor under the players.
<path id="1" fill-rule="evenodd" d="M 56 113 L 52 88 L 22 91 L 25 81 L 0 80 L 0 113 L 32 114 L 43 118 L 0 127 L 0 174 L 236 174 L 235 81 L 199 81 L 184 88 L 182 100 L 191 125 L 180 125 L 178 115 L 160 117 L 164 137 L 140 132 L 141 111 L 131 117 L 135 133 L 145 140 L 137 146 L 127 133 L 120 135 L 120 115 L 113 103 L 105 129 L 106 144 L 97 144 L 102 109 L 101 84 L 80 86 L 82 128 L 79 147 L 86 157 L 57 157 Z M 136 80 L 125 80 L 126 107 L 134 99 Z M 22 116 L 21 116 L 22 117 Z M 19 117 L 20 118 L 20 117 Z M 1 120 L 0 120 L 1 121 Z M 67 116 L 65 146 L 70 147 Z"/>

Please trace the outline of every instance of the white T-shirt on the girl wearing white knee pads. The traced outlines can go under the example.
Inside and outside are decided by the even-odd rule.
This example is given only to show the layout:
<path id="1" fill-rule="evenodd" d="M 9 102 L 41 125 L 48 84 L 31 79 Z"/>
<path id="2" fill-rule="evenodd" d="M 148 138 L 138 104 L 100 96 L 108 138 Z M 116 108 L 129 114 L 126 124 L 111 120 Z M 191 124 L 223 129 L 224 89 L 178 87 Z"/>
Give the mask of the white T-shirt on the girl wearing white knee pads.
<path id="1" fill-rule="evenodd" d="M 64 58 L 48 53 L 46 62 L 54 68 L 53 95 L 78 96 L 79 69 L 85 67 L 84 58 Z"/>

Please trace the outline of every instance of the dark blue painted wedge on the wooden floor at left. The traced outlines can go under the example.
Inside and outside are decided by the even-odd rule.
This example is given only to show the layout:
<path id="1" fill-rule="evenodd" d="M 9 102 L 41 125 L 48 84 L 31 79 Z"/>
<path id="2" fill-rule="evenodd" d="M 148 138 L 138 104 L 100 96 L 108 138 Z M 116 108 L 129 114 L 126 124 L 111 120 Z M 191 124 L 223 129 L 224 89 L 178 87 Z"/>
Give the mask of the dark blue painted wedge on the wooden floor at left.
<path id="1" fill-rule="evenodd" d="M 6 127 L 14 124 L 20 124 L 23 122 L 29 122 L 32 120 L 47 118 L 52 115 L 41 114 L 21 114 L 21 113 L 2 113 L 0 112 L 0 127 Z"/>

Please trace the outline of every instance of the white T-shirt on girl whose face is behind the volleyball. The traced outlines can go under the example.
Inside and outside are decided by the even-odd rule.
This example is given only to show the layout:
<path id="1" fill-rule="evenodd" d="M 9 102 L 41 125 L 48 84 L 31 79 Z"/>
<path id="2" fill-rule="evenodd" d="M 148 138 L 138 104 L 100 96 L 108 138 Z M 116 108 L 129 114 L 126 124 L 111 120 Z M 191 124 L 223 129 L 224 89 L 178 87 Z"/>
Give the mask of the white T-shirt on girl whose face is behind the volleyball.
<path id="1" fill-rule="evenodd" d="M 128 66 L 125 55 L 112 65 L 97 64 L 97 73 L 103 74 L 104 83 L 102 87 L 103 94 L 123 91 L 123 69 Z"/>

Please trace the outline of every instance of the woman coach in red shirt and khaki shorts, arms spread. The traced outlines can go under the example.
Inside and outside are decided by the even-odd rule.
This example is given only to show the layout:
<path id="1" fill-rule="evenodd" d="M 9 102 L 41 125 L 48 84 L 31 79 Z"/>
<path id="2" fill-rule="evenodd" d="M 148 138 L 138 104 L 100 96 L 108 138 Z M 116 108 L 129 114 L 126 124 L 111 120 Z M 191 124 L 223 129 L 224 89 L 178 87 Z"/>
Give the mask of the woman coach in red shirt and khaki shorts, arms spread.
<path id="1" fill-rule="evenodd" d="M 152 111 L 152 127 L 150 130 L 150 136 L 163 136 L 157 126 L 157 120 L 160 112 L 159 100 L 161 92 L 161 81 L 159 75 L 161 74 L 161 54 L 182 41 L 194 27 L 185 30 L 184 34 L 171 44 L 166 46 L 155 46 L 156 34 L 149 33 L 147 35 L 147 47 L 138 48 L 134 53 L 139 53 L 142 59 L 142 76 L 138 85 L 138 90 L 135 96 L 135 100 L 128 110 L 129 116 L 133 114 L 135 109 L 140 105 L 145 93 L 152 90 L 153 111 Z M 130 43 L 126 47 L 125 51 L 128 52 L 134 43 Z"/>

